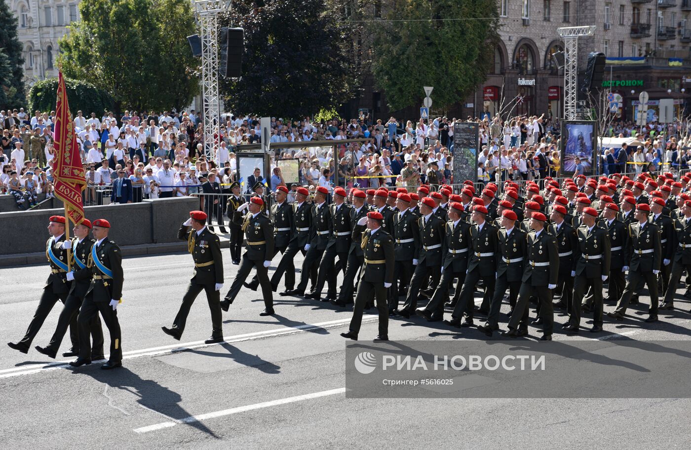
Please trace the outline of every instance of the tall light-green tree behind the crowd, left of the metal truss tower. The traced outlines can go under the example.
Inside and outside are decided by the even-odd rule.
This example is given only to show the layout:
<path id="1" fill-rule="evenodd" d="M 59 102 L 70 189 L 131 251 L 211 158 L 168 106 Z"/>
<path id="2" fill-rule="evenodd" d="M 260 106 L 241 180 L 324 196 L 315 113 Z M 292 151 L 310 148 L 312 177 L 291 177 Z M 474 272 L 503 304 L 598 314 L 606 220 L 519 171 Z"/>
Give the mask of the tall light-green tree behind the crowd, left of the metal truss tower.
<path id="1" fill-rule="evenodd" d="M 187 0 L 92 0 L 59 41 L 64 74 L 107 91 L 115 110 L 181 109 L 198 92 Z"/>

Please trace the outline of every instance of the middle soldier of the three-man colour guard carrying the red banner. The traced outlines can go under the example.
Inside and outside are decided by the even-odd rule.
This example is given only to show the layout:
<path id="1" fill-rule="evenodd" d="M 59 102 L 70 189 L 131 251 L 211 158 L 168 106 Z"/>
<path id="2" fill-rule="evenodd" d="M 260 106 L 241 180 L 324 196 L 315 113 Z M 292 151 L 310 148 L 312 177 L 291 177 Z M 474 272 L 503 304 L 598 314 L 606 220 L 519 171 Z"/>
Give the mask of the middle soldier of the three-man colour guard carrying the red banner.
<path id="1" fill-rule="evenodd" d="M 93 238 L 89 237 L 91 221 L 85 218 L 82 223 L 75 225 L 73 232 L 75 237 L 70 241 L 65 240 L 62 243 L 63 250 L 72 250 L 72 270 L 66 274 L 66 279 L 72 282 L 72 286 L 65 300 L 65 306 L 57 318 L 57 327 L 55 327 L 53 337 L 50 338 L 50 343 L 46 347 L 35 347 L 39 353 L 43 353 L 50 358 L 55 358 L 57 355 L 57 350 L 60 348 L 65 332 L 67 332 L 67 327 L 73 322 L 76 324 L 79 307 L 82 306 L 84 296 L 86 296 L 89 285 L 91 285 L 91 270 L 86 267 L 88 256 L 91 254 L 91 246 L 95 242 Z M 75 328 L 77 327 L 75 326 Z M 91 360 L 98 361 L 103 359 L 103 330 L 98 316 L 94 318 L 91 324 L 91 337 Z M 73 348 L 73 350 L 62 355 L 64 357 L 77 356 L 79 355 L 79 349 Z"/>

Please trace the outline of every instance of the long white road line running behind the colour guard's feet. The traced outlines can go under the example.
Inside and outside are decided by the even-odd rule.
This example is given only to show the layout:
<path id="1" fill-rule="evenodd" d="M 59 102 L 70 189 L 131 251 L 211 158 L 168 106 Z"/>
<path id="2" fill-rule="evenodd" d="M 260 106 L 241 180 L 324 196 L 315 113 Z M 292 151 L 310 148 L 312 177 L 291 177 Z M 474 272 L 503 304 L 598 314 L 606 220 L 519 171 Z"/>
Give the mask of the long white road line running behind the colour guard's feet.
<path id="1" fill-rule="evenodd" d="M 364 315 L 363 316 L 363 324 L 367 324 L 367 323 L 370 323 L 372 321 L 377 321 L 377 320 L 379 320 L 379 318 L 375 315 Z M 245 333 L 244 335 L 235 335 L 235 336 L 225 337 L 224 342 L 235 343 L 235 342 L 243 342 L 243 341 L 252 341 L 254 339 L 261 339 L 261 338 L 265 338 L 265 337 L 292 335 L 294 333 L 310 331 L 310 330 L 314 330 L 316 328 L 337 328 L 339 326 L 349 324 L 349 323 L 350 323 L 350 319 L 339 319 L 339 320 L 332 320 L 332 321 L 328 321 L 328 322 L 321 322 L 319 324 L 304 324 L 304 325 L 300 325 L 300 326 L 296 326 L 296 327 L 274 328 L 273 330 L 250 332 L 250 333 Z M 122 358 L 123 359 L 133 359 L 133 358 L 138 358 L 138 357 L 142 357 L 142 356 L 160 356 L 160 355 L 166 355 L 168 353 L 177 353 L 177 352 L 181 352 L 184 350 L 192 350 L 194 348 L 218 346 L 220 344 L 223 344 L 223 343 L 219 342 L 218 344 L 204 344 L 204 341 L 193 341 L 193 342 L 187 342 L 184 344 L 173 344 L 173 345 L 169 345 L 169 346 L 142 348 L 141 350 L 131 350 L 129 352 L 123 352 Z M 106 355 L 106 359 L 108 359 L 107 355 Z M 9 377 L 16 377 L 19 375 L 31 375 L 33 373 L 39 373 L 41 371 L 50 371 L 50 370 L 55 370 L 57 368 L 68 368 L 68 367 L 70 367 L 70 365 L 68 364 L 68 361 L 60 361 L 60 362 L 53 362 L 53 363 L 49 363 L 49 364 L 32 364 L 30 366 L 19 366 L 19 367 L 6 368 L 6 369 L 0 370 L 0 379 L 9 378 Z"/>

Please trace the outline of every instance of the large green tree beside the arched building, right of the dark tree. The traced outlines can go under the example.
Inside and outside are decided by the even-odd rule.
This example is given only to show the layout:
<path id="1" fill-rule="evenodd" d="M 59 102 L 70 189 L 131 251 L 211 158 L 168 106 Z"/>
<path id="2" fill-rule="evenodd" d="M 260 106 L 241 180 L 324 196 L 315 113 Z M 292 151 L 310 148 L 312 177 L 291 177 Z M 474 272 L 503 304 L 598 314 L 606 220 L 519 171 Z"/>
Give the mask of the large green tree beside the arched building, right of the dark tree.
<path id="1" fill-rule="evenodd" d="M 374 32 L 372 73 L 391 109 L 464 99 L 482 83 L 497 39 L 496 0 L 402 0 Z"/>

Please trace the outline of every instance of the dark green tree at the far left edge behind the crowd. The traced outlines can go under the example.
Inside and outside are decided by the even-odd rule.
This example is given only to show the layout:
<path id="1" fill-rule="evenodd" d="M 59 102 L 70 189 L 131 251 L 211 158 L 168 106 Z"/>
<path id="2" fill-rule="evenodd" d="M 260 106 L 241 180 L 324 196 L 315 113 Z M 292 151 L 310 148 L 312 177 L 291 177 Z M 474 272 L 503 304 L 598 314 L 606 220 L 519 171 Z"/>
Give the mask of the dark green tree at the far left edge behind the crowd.
<path id="1" fill-rule="evenodd" d="M 17 38 L 17 18 L 12 15 L 8 3 L 0 1 L 0 51 L 4 53 L 6 73 L 0 73 L 0 108 L 26 106 L 24 91 L 24 59 L 21 42 Z M 7 73 L 9 71 L 9 74 Z"/>

